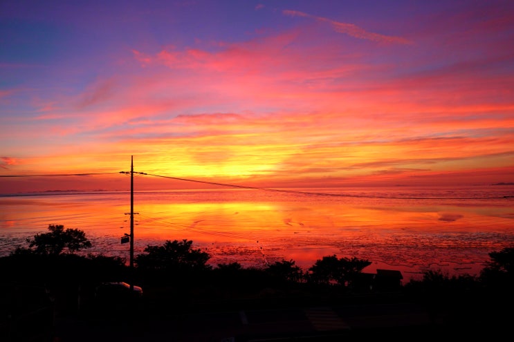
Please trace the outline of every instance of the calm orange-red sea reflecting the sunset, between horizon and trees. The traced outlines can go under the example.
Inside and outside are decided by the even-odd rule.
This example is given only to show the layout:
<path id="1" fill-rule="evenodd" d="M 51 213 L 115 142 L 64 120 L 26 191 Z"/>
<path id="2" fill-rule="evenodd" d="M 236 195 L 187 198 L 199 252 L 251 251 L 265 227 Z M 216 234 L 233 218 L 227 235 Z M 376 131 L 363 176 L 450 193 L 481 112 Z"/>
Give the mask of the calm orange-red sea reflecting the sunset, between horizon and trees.
<path id="1" fill-rule="evenodd" d="M 365 272 L 432 269 L 477 275 L 491 251 L 514 246 L 514 187 L 210 189 L 134 193 L 135 253 L 192 240 L 210 263 L 260 267 L 322 256 L 367 259 Z M 86 253 L 129 258 L 129 192 L 0 196 L 0 256 L 48 225 L 86 232 Z"/>

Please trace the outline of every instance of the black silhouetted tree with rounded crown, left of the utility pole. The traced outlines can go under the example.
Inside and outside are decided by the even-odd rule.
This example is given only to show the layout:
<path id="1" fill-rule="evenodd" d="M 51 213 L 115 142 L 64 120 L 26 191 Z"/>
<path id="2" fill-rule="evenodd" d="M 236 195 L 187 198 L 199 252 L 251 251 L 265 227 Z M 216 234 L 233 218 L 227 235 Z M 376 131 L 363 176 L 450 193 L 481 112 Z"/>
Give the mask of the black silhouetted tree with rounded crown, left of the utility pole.
<path id="1" fill-rule="evenodd" d="M 80 229 L 64 229 L 63 225 L 49 225 L 48 230 L 48 233 L 39 233 L 26 240 L 30 251 L 42 255 L 59 255 L 65 250 L 73 254 L 80 249 L 91 247 L 91 242 Z M 29 251 L 24 251 L 22 247 L 15 250 L 15 254 L 24 252 Z"/>

